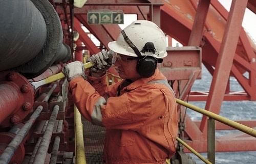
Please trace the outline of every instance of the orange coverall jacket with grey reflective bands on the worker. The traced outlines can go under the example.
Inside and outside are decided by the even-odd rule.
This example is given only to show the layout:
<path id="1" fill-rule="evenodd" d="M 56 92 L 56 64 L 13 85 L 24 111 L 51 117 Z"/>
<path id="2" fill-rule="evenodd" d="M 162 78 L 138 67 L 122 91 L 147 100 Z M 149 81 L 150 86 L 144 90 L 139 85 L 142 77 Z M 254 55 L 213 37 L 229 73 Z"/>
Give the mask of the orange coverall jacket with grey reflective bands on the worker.
<path id="1" fill-rule="evenodd" d="M 178 132 L 176 100 L 165 76 L 156 69 L 120 92 L 125 80 L 106 87 L 105 76 L 78 77 L 69 86 L 82 116 L 106 127 L 103 163 L 165 163 L 176 152 Z"/>

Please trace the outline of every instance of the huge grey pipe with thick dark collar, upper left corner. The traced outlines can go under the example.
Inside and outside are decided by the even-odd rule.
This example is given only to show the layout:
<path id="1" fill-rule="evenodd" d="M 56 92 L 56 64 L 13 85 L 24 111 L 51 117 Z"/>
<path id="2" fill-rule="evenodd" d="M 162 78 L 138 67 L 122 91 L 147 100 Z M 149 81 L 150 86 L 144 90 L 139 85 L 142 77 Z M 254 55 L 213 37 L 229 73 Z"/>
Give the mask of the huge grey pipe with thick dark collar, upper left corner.
<path id="1" fill-rule="evenodd" d="M 0 16 L 0 71 L 33 78 L 54 62 L 70 59 L 58 14 L 48 0 L 2 0 Z"/>

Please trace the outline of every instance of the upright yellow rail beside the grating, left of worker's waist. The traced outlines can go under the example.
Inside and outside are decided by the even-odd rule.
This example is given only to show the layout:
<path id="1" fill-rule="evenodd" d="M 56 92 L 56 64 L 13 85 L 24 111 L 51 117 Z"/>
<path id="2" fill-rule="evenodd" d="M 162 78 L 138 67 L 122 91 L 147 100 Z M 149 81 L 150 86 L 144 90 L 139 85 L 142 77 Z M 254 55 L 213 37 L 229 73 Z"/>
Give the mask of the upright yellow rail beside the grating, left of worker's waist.
<path id="1" fill-rule="evenodd" d="M 74 106 L 75 113 L 75 156 L 77 164 L 86 164 L 86 153 L 84 151 L 83 143 L 83 126 L 81 120 L 81 114 L 76 106 Z"/>

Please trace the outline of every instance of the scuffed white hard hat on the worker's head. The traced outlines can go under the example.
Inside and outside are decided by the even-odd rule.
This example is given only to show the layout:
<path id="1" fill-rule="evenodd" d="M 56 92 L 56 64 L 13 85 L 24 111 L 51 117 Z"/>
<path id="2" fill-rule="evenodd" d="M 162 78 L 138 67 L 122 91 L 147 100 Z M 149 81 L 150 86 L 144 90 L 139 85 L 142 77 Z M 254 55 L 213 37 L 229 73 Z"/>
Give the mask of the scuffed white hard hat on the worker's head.
<path id="1" fill-rule="evenodd" d="M 127 43 L 124 37 L 129 38 L 139 51 L 141 56 L 153 56 L 154 58 L 164 58 L 167 56 L 166 52 L 166 38 L 163 31 L 152 21 L 136 20 L 130 25 L 126 26 L 119 35 L 117 41 L 110 42 L 109 48 L 116 53 L 124 54 L 126 56 L 138 57 L 134 50 L 134 46 Z M 153 51 L 145 51 L 146 43 L 154 44 Z M 144 49 L 143 49 L 144 48 Z"/>

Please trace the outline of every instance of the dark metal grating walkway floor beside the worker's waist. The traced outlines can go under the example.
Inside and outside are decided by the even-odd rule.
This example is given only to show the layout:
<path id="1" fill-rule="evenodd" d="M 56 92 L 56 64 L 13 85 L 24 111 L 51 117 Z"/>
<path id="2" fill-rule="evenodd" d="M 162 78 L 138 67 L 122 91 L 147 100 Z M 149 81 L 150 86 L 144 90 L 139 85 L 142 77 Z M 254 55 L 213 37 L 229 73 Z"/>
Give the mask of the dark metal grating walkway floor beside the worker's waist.
<path id="1" fill-rule="evenodd" d="M 102 163 L 102 154 L 105 140 L 105 128 L 93 125 L 82 118 L 84 150 L 87 164 Z"/>

